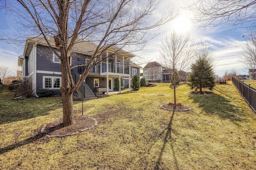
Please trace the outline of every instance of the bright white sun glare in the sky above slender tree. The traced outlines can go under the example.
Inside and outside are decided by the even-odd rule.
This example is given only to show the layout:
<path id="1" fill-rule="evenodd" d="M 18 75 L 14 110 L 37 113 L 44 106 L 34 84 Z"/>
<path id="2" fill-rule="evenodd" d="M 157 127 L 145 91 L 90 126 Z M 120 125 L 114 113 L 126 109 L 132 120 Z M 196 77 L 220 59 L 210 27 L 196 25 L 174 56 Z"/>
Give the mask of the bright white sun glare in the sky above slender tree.
<path id="1" fill-rule="evenodd" d="M 187 16 L 178 16 L 174 19 L 172 25 L 174 31 L 181 33 L 189 32 L 192 27 L 192 23 Z"/>

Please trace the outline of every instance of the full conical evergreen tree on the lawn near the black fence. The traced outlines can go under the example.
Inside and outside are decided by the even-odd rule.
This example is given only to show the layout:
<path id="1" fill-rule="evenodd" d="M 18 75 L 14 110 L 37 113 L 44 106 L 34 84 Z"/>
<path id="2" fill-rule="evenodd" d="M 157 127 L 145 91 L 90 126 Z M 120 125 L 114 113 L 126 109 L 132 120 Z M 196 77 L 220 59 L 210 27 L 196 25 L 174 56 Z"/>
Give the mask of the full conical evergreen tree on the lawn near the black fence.
<path id="1" fill-rule="evenodd" d="M 212 90 L 215 86 L 213 65 L 205 57 L 199 57 L 196 63 L 191 64 L 191 73 L 188 78 L 188 86 L 191 89 L 208 88 Z"/>

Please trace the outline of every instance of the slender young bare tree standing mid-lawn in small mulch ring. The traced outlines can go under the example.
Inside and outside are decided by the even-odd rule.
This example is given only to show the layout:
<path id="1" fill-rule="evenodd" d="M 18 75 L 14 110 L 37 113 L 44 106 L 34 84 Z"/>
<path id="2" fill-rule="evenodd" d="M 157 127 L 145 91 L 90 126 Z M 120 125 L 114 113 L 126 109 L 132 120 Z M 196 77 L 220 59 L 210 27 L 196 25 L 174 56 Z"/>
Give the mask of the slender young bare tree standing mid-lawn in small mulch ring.
<path id="1" fill-rule="evenodd" d="M 166 35 L 161 40 L 159 49 L 162 64 L 172 70 L 178 72 L 186 71 L 188 64 L 193 58 L 193 48 L 190 44 L 190 35 L 178 34 L 173 32 L 171 35 Z M 176 107 L 176 82 L 178 77 L 173 76 L 173 90 L 174 90 L 174 107 Z"/>

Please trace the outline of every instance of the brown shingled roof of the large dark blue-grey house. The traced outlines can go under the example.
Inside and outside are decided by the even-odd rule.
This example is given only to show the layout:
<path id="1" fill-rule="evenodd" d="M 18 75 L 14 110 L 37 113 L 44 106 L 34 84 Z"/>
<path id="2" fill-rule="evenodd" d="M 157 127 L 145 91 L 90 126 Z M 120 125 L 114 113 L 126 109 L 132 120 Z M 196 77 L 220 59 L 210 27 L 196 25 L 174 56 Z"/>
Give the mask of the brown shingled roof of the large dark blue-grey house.
<path id="1" fill-rule="evenodd" d="M 50 45 L 52 47 L 55 47 L 55 41 L 53 37 L 47 37 L 48 41 L 50 43 Z M 31 43 L 38 43 L 40 45 L 48 45 L 46 40 L 44 39 L 44 37 L 27 37 L 26 39 L 26 45 L 25 45 L 25 49 L 24 49 L 24 54 L 25 56 L 29 55 L 29 53 L 26 52 L 27 48 L 32 48 Z M 74 44 L 73 47 L 73 51 L 77 52 L 77 53 L 85 53 L 87 55 L 92 55 L 94 54 L 96 48 L 98 47 L 98 45 L 90 42 L 90 41 L 84 41 L 82 39 L 76 39 L 76 43 Z M 128 53 L 127 51 L 124 51 L 123 49 L 120 49 L 116 46 L 112 46 L 110 47 L 108 50 L 106 51 L 112 51 L 112 52 L 116 52 L 118 51 L 118 54 L 120 55 L 126 55 L 127 57 L 134 57 L 135 55 L 132 53 Z"/>

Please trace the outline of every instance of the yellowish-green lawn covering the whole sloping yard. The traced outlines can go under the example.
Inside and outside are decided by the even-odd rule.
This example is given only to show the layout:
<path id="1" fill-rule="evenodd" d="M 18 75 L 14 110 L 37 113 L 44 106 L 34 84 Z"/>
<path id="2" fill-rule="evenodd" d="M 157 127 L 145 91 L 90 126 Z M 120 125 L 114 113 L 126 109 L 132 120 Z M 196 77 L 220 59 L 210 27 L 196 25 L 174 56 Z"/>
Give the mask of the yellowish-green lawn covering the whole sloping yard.
<path id="1" fill-rule="evenodd" d="M 172 100 L 167 83 L 86 101 L 84 115 L 98 120 L 96 129 L 39 139 L 44 123 L 62 117 L 61 99 L 0 93 L 0 169 L 256 169 L 256 115 L 236 88 L 189 91 L 177 88 L 188 112 L 160 108 Z M 81 108 L 74 102 L 76 114 Z"/>

